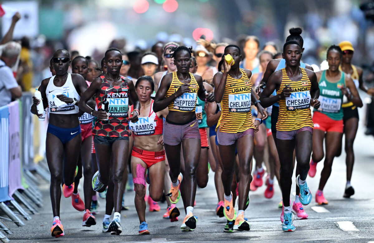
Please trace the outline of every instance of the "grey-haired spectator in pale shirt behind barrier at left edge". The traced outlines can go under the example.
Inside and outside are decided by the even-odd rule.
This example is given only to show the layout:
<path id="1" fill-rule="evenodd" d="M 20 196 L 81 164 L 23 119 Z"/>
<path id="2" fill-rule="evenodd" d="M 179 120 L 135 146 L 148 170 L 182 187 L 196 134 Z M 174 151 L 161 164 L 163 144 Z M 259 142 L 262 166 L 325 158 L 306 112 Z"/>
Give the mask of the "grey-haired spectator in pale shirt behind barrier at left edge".
<path id="1" fill-rule="evenodd" d="M 22 96 L 21 86 L 18 85 L 13 76 L 12 68 L 19 53 L 21 52 L 21 44 L 14 41 L 8 42 L 3 48 L 0 56 L 0 105 L 9 104 L 12 99 Z"/>

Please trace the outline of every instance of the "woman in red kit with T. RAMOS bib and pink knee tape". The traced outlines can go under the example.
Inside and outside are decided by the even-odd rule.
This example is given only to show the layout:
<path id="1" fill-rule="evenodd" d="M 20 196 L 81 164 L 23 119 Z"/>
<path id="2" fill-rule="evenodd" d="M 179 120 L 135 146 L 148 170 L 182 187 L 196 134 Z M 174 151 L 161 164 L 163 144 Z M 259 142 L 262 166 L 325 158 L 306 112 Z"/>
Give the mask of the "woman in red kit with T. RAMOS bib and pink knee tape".
<path id="1" fill-rule="evenodd" d="M 168 108 L 157 113 L 153 111 L 154 101 L 151 99 L 151 94 L 154 91 L 154 82 L 150 76 L 141 76 L 135 84 L 135 90 L 140 101 L 140 115 L 138 122 L 129 123 L 132 134 L 134 135 L 131 172 L 136 192 L 135 208 L 137 209 L 140 221 L 139 234 L 149 234 L 148 224 L 145 222 L 145 172 L 148 169 L 147 183 L 150 184 L 149 196 L 158 202 L 163 194 L 165 174 L 162 118 L 168 115 Z M 130 112 L 133 109 L 133 106 L 131 106 Z M 176 207 L 171 211 L 179 215 L 179 210 Z"/>

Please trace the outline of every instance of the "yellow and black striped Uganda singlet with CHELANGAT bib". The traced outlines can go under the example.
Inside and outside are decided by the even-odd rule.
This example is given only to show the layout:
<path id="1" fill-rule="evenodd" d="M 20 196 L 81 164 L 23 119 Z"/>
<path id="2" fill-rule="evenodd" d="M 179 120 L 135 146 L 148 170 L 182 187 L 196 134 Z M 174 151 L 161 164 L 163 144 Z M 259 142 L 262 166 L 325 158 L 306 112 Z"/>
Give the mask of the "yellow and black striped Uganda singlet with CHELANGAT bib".
<path id="1" fill-rule="evenodd" d="M 251 114 L 252 83 L 246 71 L 240 68 L 242 77 L 233 79 L 227 75 L 226 87 L 221 101 L 221 117 L 217 129 L 220 132 L 238 133 L 255 128 Z"/>

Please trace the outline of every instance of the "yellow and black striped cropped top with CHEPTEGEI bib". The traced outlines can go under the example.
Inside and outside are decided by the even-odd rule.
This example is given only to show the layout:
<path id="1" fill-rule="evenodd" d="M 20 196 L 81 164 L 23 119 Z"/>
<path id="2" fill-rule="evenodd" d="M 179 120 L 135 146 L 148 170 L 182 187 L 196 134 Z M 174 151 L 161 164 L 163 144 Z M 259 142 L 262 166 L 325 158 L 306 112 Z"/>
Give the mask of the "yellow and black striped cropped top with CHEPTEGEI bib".
<path id="1" fill-rule="evenodd" d="M 184 84 L 181 81 L 179 81 L 177 77 L 177 72 L 173 72 L 173 79 L 171 81 L 170 87 L 168 92 L 166 92 L 165 97 L 168 98 L 177 90 L 179 87 Z M 181 112 L 190 112 L 195 111 L 196 108 L 196 99 L 197 99 L 197 91 L 199 90 L 199 84 L 197 84 L 197 81 L 193 74 L 189 73 L 191 76 L 190 81 L 190 93 L 184 93 L 183 95 L 177 97 L 177 99 L 174 100 L 174 102 L 170 103 L 168 108 L 169 111 L 181 111 Z"/>

